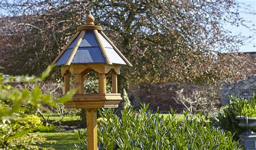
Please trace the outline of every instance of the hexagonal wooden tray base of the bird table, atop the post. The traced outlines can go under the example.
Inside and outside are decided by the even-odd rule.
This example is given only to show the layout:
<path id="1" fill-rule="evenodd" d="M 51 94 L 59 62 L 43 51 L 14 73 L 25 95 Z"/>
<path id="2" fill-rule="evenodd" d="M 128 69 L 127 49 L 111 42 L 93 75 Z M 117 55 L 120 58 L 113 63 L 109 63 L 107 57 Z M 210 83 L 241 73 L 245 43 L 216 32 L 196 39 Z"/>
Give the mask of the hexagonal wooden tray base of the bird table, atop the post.
<path id="1" fill-rule="evenodd" d="M 75 94 L 66 108 L 114 108 L 122 100 L 120 93 Z"/>

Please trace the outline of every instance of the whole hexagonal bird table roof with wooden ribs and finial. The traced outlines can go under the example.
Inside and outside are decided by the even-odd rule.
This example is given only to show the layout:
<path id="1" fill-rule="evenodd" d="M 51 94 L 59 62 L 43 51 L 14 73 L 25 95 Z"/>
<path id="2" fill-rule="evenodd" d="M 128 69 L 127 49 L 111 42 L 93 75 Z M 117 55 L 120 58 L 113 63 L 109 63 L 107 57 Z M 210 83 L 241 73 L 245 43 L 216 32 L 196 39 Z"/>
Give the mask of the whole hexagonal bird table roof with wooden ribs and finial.
<path id="1" fill-rule="evenodd" d="M 86 25 L 79 26 L 78 31 L 52 62 L 55 65 L 70 64 L 119 64 L 131 63 L 123 56 L 109 38 L 102 32 L 102 27 L 93 23 L 91 13 L 85 18 Z"/>

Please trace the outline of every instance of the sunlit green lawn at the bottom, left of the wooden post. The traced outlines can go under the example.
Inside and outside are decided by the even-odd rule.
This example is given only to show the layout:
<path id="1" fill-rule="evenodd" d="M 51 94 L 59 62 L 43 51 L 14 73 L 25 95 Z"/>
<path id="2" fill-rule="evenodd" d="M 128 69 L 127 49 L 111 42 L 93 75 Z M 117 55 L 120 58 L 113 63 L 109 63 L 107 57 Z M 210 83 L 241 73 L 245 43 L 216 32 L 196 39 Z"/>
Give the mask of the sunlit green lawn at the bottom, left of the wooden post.
<path id="1" fill-rule="evenodd" d="M 56 143 L 43 143 L 37 146 L 47 149 L 76 149 L 75 133 L 38 133 L 38 135 L 43 135 L 47 140 L 55 140 Z"/>

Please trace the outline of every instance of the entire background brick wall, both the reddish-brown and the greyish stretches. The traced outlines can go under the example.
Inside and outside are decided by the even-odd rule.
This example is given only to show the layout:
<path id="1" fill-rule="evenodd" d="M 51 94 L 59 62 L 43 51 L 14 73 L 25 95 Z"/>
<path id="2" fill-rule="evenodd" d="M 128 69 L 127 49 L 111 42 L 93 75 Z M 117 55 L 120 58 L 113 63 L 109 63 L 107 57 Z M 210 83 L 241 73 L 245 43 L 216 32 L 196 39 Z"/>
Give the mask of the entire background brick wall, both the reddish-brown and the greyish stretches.
<path id="1" fill-rule="evenodd" d="M 250 53 L 250 57 L 255 62 L 256 66 L 256 52 Z M 139 107 L 142 103 L 150 103 L 151 110 L 157 110 L 159 107 L 160 112 L 168 112 L 170 107 L 174 110 L 183 110 L 183 107 L 176 103 L 176 91 L 184 88 L 184 93 L 198 90 L 196 85 L 188 84 L 152 84 L 152 85 L 132 85 L 129 88 L 129 98 L 134 107 Z M 236 94 L 242 97 L 250 97 L 256 90 L 256 73 L 246 80 L 241 80 L 232 85 L 223 85 L 223 90 L 220 91 L 221 102 L 223 105 L 228 103 L 228 97 L 231 94 Z"/>

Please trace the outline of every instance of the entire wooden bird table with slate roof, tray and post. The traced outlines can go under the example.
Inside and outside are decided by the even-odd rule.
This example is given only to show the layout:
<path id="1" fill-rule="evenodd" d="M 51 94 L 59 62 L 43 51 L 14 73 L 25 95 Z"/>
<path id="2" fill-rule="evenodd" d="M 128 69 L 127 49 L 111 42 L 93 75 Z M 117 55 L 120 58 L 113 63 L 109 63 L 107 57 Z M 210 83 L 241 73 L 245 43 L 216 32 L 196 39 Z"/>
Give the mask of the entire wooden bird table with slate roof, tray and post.
<path id="1" fill-rule="evenodd" d="M 86 109 L 87 149 L 97 149 L 97 109 L 118 107 L 122 100 L 117 91 L 120 66 L 132 66 L 94 21 L 89 13 L 85 25 L 77 28 L 76 34 L 52 62 L 61 66 L 65 93 L 70 90 L 70 74 L 74 76 L 77 93 L 65 107 Z M 84 76 L 90 71 L 98 74 L 99 93 L 84 93 Z M 112 74 L 112 93 L 106 92 L 106 74 L 109 73 Z"/>

